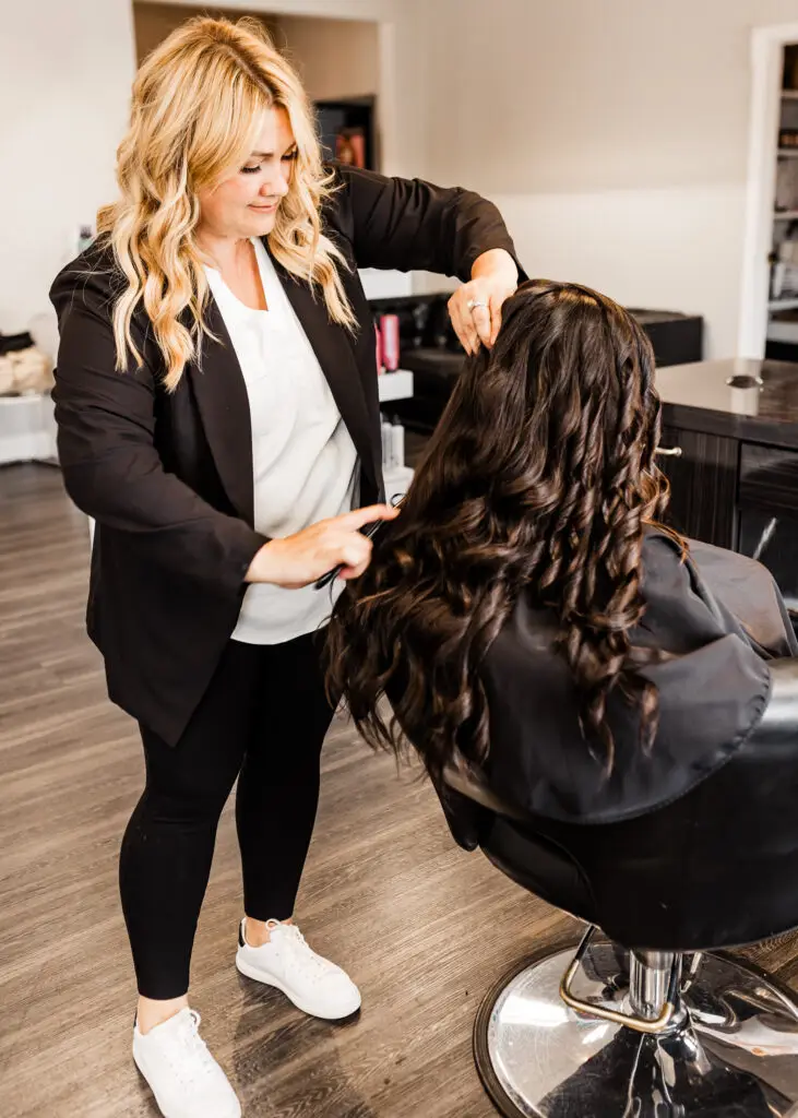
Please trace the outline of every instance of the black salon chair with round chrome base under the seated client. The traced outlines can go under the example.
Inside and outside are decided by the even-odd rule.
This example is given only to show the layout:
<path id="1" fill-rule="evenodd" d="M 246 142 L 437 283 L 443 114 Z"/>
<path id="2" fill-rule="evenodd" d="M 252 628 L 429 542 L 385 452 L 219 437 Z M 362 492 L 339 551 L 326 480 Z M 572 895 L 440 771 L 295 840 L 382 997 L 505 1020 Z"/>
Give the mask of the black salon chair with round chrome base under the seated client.
<path id="1" fill-rule="evenodd" d="M 798 995 L 723 954 L 798 927 L 798 659 L 770 669 L 732 758 L 621 822 L 532 816 L 465 762 L 447 768 L 460 845 L 587 925 L 477 1013 L 477 1069 L 506 1118 L 798 1118 Z"/>

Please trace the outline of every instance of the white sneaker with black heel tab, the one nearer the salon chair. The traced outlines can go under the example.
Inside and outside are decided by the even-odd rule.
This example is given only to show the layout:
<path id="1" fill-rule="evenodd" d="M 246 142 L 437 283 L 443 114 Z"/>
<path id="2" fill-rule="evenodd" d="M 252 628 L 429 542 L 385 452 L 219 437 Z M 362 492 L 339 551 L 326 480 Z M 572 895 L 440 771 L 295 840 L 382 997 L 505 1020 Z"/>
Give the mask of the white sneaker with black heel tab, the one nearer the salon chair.
<path id="1" fill-rule="evenodd" d="M 267 921 L 269 941 L 250 947 L 245 920 L 238 929 L 236 966 L 247 978 L 276 986 L 297 1010 L 324 1021 L 351 1017 L 360 1008 L 360 991 L 341 967 L 316 955 L 298 928 Z"/>

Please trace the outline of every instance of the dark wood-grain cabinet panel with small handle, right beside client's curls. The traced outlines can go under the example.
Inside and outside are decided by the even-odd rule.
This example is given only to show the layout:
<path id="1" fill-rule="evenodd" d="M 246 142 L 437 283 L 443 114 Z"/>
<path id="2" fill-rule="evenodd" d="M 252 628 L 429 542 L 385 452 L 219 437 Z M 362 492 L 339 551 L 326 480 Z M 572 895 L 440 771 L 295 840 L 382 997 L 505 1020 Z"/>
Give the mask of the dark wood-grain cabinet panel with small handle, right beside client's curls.
<path id="1" fill-rule="evenodd" d="M 671 482 L 668 523 L 693 539 L 734 547 L 739 443 L 676 427 L 664 427 L 659 442 L 682 452 L 657 457 Z"/>

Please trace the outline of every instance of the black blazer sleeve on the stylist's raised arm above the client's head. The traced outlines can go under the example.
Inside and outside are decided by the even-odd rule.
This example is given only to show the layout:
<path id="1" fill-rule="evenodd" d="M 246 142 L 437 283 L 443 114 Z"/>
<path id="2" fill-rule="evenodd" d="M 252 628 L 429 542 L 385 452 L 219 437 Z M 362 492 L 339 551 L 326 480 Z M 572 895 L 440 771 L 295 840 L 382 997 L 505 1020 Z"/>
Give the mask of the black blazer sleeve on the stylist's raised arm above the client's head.
<path id="1" fill-rule="evenodd" d="M 336 168 L 335 215 L 361 268 L 421 269 L 471 280 L 474 260 L 504 248 L 526 280 L 502 215 L 493 202 L 460 187 L 386 178 Z"/>

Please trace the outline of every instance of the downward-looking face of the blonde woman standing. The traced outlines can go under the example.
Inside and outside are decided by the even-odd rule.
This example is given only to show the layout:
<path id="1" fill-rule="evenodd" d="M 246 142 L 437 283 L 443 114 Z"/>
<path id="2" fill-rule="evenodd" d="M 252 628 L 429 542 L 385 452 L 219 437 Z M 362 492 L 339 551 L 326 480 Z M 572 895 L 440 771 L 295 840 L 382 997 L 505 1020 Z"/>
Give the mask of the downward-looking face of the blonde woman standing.
<path id="1" fill-rule="evenodd" d="M 199 191 L 200 230 L 213 237 L 265 237 L 288 192 L 295 159 L 288 114 L 267 110 L 244 165 L 212 190 Z"/>

